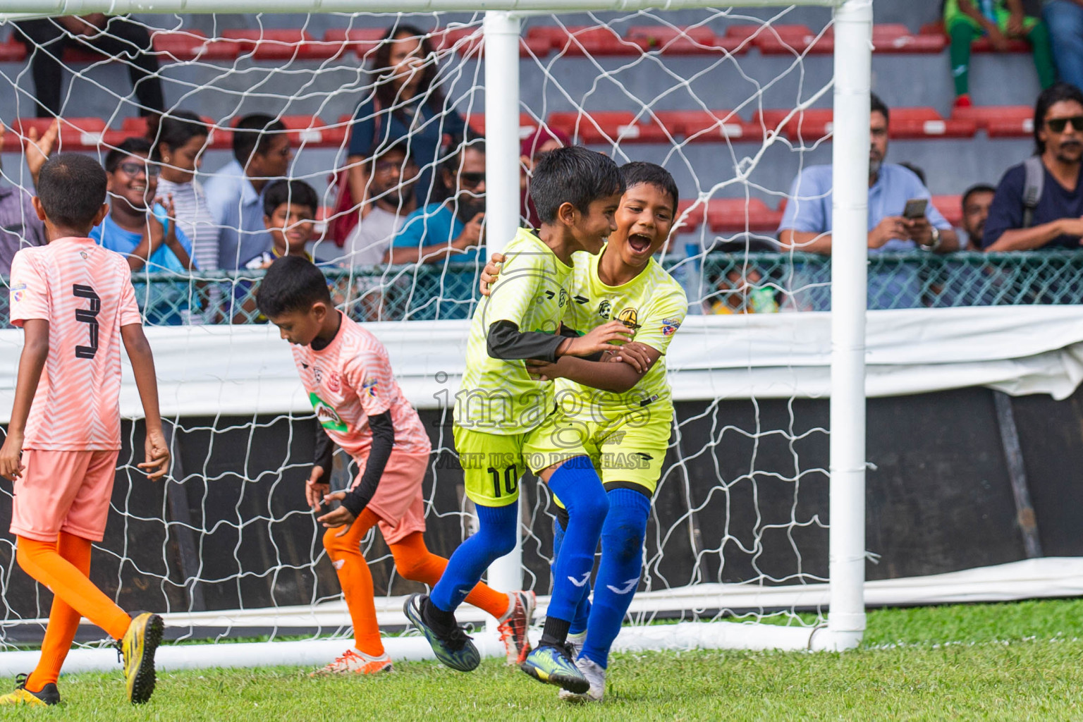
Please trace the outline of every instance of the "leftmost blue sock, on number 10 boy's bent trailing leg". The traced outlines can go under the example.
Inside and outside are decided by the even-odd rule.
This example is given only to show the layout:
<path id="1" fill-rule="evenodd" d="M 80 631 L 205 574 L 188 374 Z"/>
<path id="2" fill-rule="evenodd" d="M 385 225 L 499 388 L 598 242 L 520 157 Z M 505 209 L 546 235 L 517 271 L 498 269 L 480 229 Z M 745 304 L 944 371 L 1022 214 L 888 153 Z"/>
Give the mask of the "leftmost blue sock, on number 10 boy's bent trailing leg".
<path id="1" fill-rule="evenodd" d="M 443 612 L 454 612 L 481 581 L 488 565 L 516 548 L 519 502 L 506 507 L 477 506 L 478 531 L 459 544 L 429 600 Z"/>

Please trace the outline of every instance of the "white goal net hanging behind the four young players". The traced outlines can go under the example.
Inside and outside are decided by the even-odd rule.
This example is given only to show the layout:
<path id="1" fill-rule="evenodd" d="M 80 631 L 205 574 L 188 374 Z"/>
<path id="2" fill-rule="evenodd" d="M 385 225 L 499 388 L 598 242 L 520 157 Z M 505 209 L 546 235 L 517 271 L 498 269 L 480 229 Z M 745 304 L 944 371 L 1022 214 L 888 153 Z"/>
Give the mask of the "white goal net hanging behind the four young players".
<path id="1" fill-rule="evenodd" d="M 867 6 L 850 3 L 856 4 L 861 9 L 853 25 L 867 34 L 869 18 L 861 14 Z M 458 234 L 441 225 L 447 221 L 435 204 L 451 208 L 452 223 L 459 225 L 470 221 L 470 211 L 484 210 L 492 252 L 510 236 L 509 220 L 511 225 L 530 221 L 518 179 L 549 143 L 572 141 L 618 163 L 645 160 L 666 168 L 681 197 L 678 227 L 661 261 L 686 288 L 690 314 L 665 359 L 676 419 L 653 500 L 640 591 L 618 646 L 808 647 L 812 630 L 826 626 L 834 608 L 830 588 L 837 580 L 830 568 L 836 561 L 848 565 L 850 590 L 844 609 L 850 615 L 850 636 L 838 646 L 856 643 L 863 627 L 862 578 L 854 580 L 853 569 L 863 565 L 863 526 L 850 531 L 856 549 L 833 548 L 840 542 L 832 537 L 838 520 L 851 524 L 860 517 L 863 524 L 853 512 L 854 506 L 861 509 L 861 497 L 839 516 L 830 470 L 841 463 L 839 478 L 853 494 L 863 494 L 863 412 L 850 418 L 830 411 L 831 394 L 810 392 L 799 378 L 795 366 L 804 362 L 793 359 L 806 346 L 795 324 L 799 314 L 793 312 L 831 297 L 830 265 L 785 251 L 775 240 L 785 205 L 800 202 L 787 198 L 795 175 L 809 165 L 832 161 L 832 123 L 810 129 L 801 119 L 806 110 L 833 106 L 838 80 L 833 51 L 843 29 L 836 28 L 831 8 L 760 5 L 533 13 L 514 18 L 519 40 L 510 58 L 507 53 L 493 57 L 497 45 L 486 42 L 488 24 L 481 12 L 133 14 L 82 21 L 86 32 L 56 21 L 0 25 L 0 40 L 6 39 L 0 44 L 6 53 L 0 56 L 6 186 L 32 193 L 24 158 L 35 153 L 40 143 L 35 139 L 48 132 L 53 117 L 60 118 L 58 149 L 103 160 L 110 152 L 116 156 L 117 148 L 122 148 L 121 160 L 139 156 L 127 139 L 146 137 L 154 148 L 152 166 L 157 165 L 152 174 L 162 169 L 158 182 L 172 179 L 168 187 L 177 188 L 173 213 L 178 227 L 191 236 L 188 252 L 196 262 L 188 271 L 152 258 L 133 275 L 152 327 L 175 462 L 161 484 L 139 473 L 141 411 L 126 381 L 125 447 L 107 536 L 95 546 L 94 581 L 125 608 L 166 613 L 169 635 L 180 641 L 334 641 L 350 631 L 321 543 L 323 530 L 303 499 L 312 462 L 312 408 L 287 344 L 260 323 L 252 301 L 261 264 L 258 259 L 246 263 L 242 249 L 246 234 L 255 234 L 251 227 L 208 222 L 210 216 L 181 208 L 185 176 L 179 171 L 185 166 L 166 157 L 178 150 L 177 143 L 171 146 L 164 137 L 161 124 L 147 122 L 159 109 L 153 104 L 160 102 L 167 116 L 191 111 L 206 123 L 209 134 L 205 145 L 197 143 L 194 178 L 216 193 L 225 187 L 214 185 L 216 174 L 234 172 L 231 180 L 243 182 L 229 166 L 244 119 L 265 114 L 280 121 L 282 130 L 274 126 L 269 133 L 288 141 L 272 146 L 288 148 L 282 150 L 282 174 L 306 182 L 318 197 L 308 250 L 327 264 L 340 309 L 370 324 L 388 346 L 400 383 L 432 436 L 426 539 L 443 555 L 474 524 L 447 403 L 464 369 L 467 319 L 478 302 L 485 252 L 421 252 L 419 259 L 417 238 L 446 244 Z M 394 38 L 420 32 L 421 102 L 399 86 L 389 90 L 390 64 L 402 60 L 389 60 L 383 41 L 389 28 Z M 852 37 L 854 30 L 847 31 Z M 141 47 L 141 39 L 149 45 Z M 858 99 L 848 108 L 859 110 L 844 118 L 836 108 L 836 130 L 864 126 L 867 131 L 867 100 L 861 94 L 862 62 L 867 92 L 867 40 L 865 45 L 856 52 L 857 79 L 846 89 Z M 497 60 L 505 73 L 518 76 L 518 97 L 497 97 Z M 60 78 L 60 92 L 52 89 L 58 105 L 48 108 L 39 103 L 49 102 L 49 89 L 35 86 L 48 77 L 42 68 Z M 494 113 L 498 104 L 503 113 Z M 509 129 L 496 121 L 501 115 L 517 117 L 518 123 Z M 478 137 L 486 137 L 488 156 L 500 153 L 503 159 L 484 159 L 483 193 L 477 188 L 484 176 L 466 168 L 466 154 L 482 147 Z M 522 160 L 506 157 L 514 155 L 506 154 L 508 148 L 520 152 Z M 848 152 L 857 159 L 849 171 L 857 182 L 848 188 L 863 183 L 864 152 Z M 839 149 L 834 153 L 837 160 Z M 503 171 L 494 170 L 497 165 Z M 509 169 L 512 183 L 494 183 L 507 180 Z M 110 186 L 114 207 L 127 202 L 130 192 L 117 183 Z M 836 171 L 836 201 L 844 185 Z M 863 197 L 859 200 L 863 207 Z M 206 210 L 216 198 L 199 202 Z M 247 201 L 232 202 L 232 210 L 239 210 L 232 218 L 243 218 L 240 206 Z M 366 209 L 358 224 L 363 204 L 380 210 L 374 215 Z M 415 215 L 420 235 L 393 240 L 395 224 L 401 237 L 414 208 L 420 209 Z M 28 218 L 19 221 L 27 228 L 32 224 Z M 382 236 L 366 232 L 380 223 Z M 836 210 L 836 238 L 845 235 L 840 226 Z M 368 236 L 362 238 L 362 232 Z M 133 233 L 138 238 L 140 232 Z M 234 240 L 226 241 L 227 236 Z M 862 231 L 862 245 L 863 237 Z M 863 313 L 859 250 L 854 246 L 847 252 L 858 259 L 850 267 L 859 270 L 862 286 L 850 298 L 861 299 Z M 850 339 L 860 343 L 861 321 L 852 313 L 848 318 Z M 828 324 L 818 328 L 826 333 Z M 3 368 L 13 381 L 19 332 L 3 330 L 0 337 Z M 857 358 L 851 355 L 848 368 L 860 375 L 860 353 Z M 11 408 L 11 388 L 0 394 L 3 413 Z M 863 403 L 863 392 L 852 384 L 850 392 L 851 407 Z M 841 451 L 828 434 L 840 426 L 851 436 L 850 448 Z M 849 459 L 839 462 L 839 454 Z M 334 483 L 341 487 L 350 474 L 340 452 Z M 9 482 L 0 482 L 0 495 L 9 501 L 11 490 Z M 490 581 L 507 588 L 519 582 L 521 570 L 523 588 L 533 589 L 544 608 L 554 504 L 536 480 L 524 482 L 522 490 L 521 557 L 512 562 L 513 572 L 504 563 L 505 572 L 499 578 L 491 574 Z M 3 529 L 10 509 L 0 503 Z M 419 588 L 395 574 L 379 534 L 370 534 L 363 549 L 381 622 L 388 630 L 401 628 L 402 596 Z M 34 645 L 51 594 L 17 567 L 14 538 L 6 533 L 0 538 L 0 639 L 8 649 Z M 460 618 L 485 621 L 481 612 L 467 607 Z M 667 628 L 652 638 L 650 625 L 661 620 L 738 625 L 712 626 L 722 630 L 715 636 L 703 625 L 687 633 Z M 99 636 L 100 630 L 88 626 L 80 640 L 93 646 Z M 220 652 L 207 664 L 222 664 L 214 661 Z"/>

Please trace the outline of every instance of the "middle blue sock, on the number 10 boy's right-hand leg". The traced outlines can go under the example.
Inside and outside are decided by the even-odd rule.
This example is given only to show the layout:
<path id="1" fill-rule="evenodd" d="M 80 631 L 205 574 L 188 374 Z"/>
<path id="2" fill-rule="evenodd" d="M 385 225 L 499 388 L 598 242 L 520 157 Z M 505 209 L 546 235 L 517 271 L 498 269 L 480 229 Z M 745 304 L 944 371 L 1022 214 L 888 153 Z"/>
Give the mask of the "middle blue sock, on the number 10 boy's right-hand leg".
<path id="1" fill-rule="evenodd" d="M 586 456 L 570 459 L 558 468 L 549 477 L 549 489 L 567 509 L 567 528 L 553 564 L 552 598 L 546 614 L 571 622 L 587 592 L 609 499 L 590 457 Z"/>

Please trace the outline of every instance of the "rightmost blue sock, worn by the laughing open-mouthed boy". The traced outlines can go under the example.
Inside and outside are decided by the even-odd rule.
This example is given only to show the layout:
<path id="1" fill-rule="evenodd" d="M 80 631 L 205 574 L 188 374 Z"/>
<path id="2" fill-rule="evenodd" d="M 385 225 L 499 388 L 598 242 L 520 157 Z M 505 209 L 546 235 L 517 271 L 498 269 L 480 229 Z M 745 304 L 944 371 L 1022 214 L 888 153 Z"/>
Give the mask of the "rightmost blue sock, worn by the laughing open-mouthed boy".
<path id="1" fill-rule="evenodd" d="M 631 598 L 643 570 L 643 538 L 651 500 L 635 489 L 609 493 L 610 512 L 602 527 L 602 560 L 595 583 L 595 603 L 587 622 L 587 641 L 580 656 L 601 667 L 609 665 L 609 651 L 621 631 Z"/>

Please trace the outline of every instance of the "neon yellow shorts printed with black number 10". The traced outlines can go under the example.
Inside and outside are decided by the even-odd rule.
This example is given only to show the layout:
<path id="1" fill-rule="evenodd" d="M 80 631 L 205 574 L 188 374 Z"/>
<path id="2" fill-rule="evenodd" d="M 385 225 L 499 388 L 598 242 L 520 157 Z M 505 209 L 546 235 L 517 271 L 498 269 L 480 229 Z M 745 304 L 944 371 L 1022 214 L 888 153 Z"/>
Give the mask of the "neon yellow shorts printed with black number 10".
<path id="1" fill-rule="evenodd" d="M 455 450 L 459 452 L 467 497 L 483 507 L 507 507 L 519 500 L 519 480 L 525 434 L 487 434 L 455 426 Z"/>

